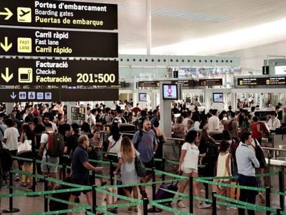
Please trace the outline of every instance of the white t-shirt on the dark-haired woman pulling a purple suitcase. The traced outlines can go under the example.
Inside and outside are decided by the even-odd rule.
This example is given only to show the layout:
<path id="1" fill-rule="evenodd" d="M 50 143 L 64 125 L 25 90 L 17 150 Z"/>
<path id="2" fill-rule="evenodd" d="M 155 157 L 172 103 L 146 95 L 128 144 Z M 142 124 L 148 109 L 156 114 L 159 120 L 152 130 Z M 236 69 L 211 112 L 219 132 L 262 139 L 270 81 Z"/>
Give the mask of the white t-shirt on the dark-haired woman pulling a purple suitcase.
<path id="1" fill-rule="evenodd" d="M 189 142 L 184 142 L 182 145 L 182 150 L 187 150 L 184 156 L 184 161 L 182 162 L 183 168 L 193 168 L 198 170 L 198 156 L 200 151 L 196 144 L 190 144 Z"/>

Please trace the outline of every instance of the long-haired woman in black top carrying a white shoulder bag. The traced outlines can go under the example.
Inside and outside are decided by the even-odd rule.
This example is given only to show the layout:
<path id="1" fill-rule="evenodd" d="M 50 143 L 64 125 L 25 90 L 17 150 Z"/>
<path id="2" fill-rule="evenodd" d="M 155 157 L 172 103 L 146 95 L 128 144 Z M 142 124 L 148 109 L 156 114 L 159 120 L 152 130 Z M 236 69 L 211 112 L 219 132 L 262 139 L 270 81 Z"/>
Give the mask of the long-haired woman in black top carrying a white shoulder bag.
<path id="1" fill-rule="evenodd" d="M 20 142 L 24 143 L 25 141 L 29 141 L 31 143 L 32 151 L 23 153 L 23 154 L 19 155 L 19 157 L 35 158 L 35 155 L 36 155 L 36 153 L 35 153 L 36 134 L 34 133 L 34 131 L 32 131 L 32 129 L 29 127 L 28 124 L 23 125 L 23 129 L 22 129 L 21 136 L 20 136 Z M 26 172 L 29 172 L 30 167 L 31 167 L 31 162 L 24 160 L 23 161 L 23 169 Z M 30 183 L 32 184 L 32 177 L 26 175 L 24 182 L 21 184 L 21 186 L 27 187 L 28 179 L 30 180 Z M 28 186 L 28 189 L 32 189 L 32 186 L 31 185 Z"/>

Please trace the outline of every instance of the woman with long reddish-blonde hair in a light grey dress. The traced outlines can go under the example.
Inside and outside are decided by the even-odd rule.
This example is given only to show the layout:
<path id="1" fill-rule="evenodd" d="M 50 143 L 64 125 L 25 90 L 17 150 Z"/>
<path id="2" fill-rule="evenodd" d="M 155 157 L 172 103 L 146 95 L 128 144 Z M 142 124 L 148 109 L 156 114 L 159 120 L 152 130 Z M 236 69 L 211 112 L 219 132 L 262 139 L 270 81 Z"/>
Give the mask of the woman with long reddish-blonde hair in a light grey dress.
<path id="1" fill-rule="evenodd" d="M 114 171 L 117 175 L 119 170 L 121 171 L 122 185 L 137 184 L 140 182 L 140 178 L 137 176 L 135 169 L 135 157 L 140 156 L 140 153 L 135 150 L 133 142 L 128 138 L 124 137 L 121 141 L 120 151 L 118 152 L 118 166 Z M 129 198 L 132 198 L 131 191 L 128 187 L 123 187 L 124 193 Z M 138 198 L 137 186 L 132 187 L 133 198 Z M 137 205 L 128 207 L 128 211 L 133 209 L 134 212 L 138 211 Z"/>

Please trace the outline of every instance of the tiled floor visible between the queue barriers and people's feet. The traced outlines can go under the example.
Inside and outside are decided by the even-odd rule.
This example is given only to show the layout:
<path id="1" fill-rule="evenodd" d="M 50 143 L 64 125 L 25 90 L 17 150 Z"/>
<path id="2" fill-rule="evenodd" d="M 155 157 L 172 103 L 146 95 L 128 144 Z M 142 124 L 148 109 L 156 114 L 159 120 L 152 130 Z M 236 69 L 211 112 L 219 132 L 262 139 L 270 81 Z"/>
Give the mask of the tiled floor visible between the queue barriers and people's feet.
<path id="1" fill-rule="evenodd" d="M 277 169 L 273 169 L 273 171 L 276 171 L 276 170 Z M 160 178 L 158 178 L 158 179 L 160 179 Z M 15 186 L 20 187 L 20 185 L 21 185 L 20 182 L 15 183 Z M 273 189 L 277 188 L 277 178 L 274 178 L 274 180 L 272 180 L 272 186 L 273 186 Z M 37 184 L 37 191 L 40 191 L 40 190 L 43 190 L 43 183 Z M 188 193 L 187 192 L 188 190 L 189 189 L 187 187 L 186 193 Z M 147 192 L 148 192 L 149 196 L 152 196 L 151 195 L 151 187 L 149 187 L 147 189 Z M 7 193 L 8 193 L 8 189 L 3 188 L 1 190 L 1 194 L 7 194 Z M 203 195 L 204 194 L 202 194 L 202 196 Z M 105 197 L 106 196 L 104 194 L 98 194 L 97 193 L 97 203 L 105 204 L 105 201 L 104 201 Z M 80 201 L 81 201 L 81 203 L 86 204 L 85 196 L 83 196 L 83 195 L 80 196 Z M 120 203 L 124 203 L 124 202 L 125 202 L 124 200 L 120 201 Z M 257 201 L 257 203 L 258 203 L 258 201 Z M 279 203 L 278 196 L 271 195 L 271 206 L 276 208 L 276 207 L 278 207 L 278 203 Z M 182 210 L 184 212 L 188 212 L 189 211 L 188 200 L 184 200 L 184 204 L 187 205 L 187 208 L 180 209 L 180 210 Z M 196 200 L 194 200 L 194 205 L 195 205 L 194 214 L 202 214 L 202 215 L 212 214 L 212 209 L 198 209 L 196 206 L 197 205 Z M 16 197 L 16 198 L 14 198 L 14 205 L 13 206 L 20 209 L 20 212 L 14 213 L 16 215 L 17 214 L 32 214 L 35 212 L 41 213 L 41 212 L 44 212 L 44 198 L 43 197 L 26 197 L 26 196 Z M 8 198 L 3 198 L 2 202 L 1 202 L 1 209 L 6 209 L 8 207 L 9 207 Z M 151 207 L 151 206 L 149 206 L 149 207 Z M 177 208 L 177 206 L 174 202 L 171 204 L 171 207 L 173 207 L 175 209 Z M 77 214 L 84 214 L 84 212 L 77 213 Z M 128 212 L 127 208 L 124 207 L 124 208 L 120 208 L 118 210 L 118 214 L 143 214 L 142 205 L 139 207 L 139 210 L 137 213 Z M 173 214 L 173 213 L 163 211 L 163 212 L 157 213 L 157 214 Z M 217 214 L 230 214 L 231 215 L 231 214 L 238 214 L 238 212 L 237 211 L 227 211 L 225 206 L 221 206 L 220 210 L 217 211 Z M 256 214 L 265 214 L 265 213 L 256 212 Z"/>

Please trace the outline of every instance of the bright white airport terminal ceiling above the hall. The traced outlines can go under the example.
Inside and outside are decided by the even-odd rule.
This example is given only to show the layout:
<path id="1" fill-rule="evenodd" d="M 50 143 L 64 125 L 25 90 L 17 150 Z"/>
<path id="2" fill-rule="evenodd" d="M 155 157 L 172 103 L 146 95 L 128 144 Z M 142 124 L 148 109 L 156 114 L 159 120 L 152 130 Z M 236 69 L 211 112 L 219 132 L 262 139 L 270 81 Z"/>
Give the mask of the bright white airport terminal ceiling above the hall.
<path id="1" fill-rule="evenodd" d="M 118 4 L 119 53 L 146 54 L 146 1 Z M 153 55 L 239 55 L 260 70 L 267 55 L 285 55 L 286 1 L 151 0 Z"/>

